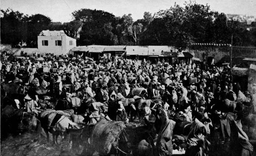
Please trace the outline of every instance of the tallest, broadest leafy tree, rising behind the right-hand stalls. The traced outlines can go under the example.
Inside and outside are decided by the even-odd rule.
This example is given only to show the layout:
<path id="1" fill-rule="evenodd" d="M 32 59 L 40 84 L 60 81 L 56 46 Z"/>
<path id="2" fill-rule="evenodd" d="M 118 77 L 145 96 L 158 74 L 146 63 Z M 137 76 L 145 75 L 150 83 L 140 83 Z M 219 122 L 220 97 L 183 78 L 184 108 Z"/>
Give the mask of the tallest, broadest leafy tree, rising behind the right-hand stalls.
<path id="1" fill-rule="evenodd" d="M 212 39 L 210 25 L 214 12 L 208 5 L 185 3 L 185 7 L 174 5 L 168 10 L 157 12 L 154 18 L 161 19 L 168 33 L 167 45 L 185 49 L 192 42 L 207 42 Z M 210 36 L 209 36 L 210 35 Z"/>

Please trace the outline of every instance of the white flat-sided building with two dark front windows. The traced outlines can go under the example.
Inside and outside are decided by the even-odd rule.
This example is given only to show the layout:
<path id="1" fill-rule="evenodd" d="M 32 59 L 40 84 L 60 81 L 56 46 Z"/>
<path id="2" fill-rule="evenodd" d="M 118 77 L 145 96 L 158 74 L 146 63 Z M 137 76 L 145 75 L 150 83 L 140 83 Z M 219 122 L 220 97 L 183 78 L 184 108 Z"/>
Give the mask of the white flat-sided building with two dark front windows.
<path id="1" fill-rule="evenodd" d="M 46 30 L 37 36 L 37 46 L 40 53 L 65 55 L 72 47 L 76 46 L 76 39 L 67 36 L 64 31 Z"/>

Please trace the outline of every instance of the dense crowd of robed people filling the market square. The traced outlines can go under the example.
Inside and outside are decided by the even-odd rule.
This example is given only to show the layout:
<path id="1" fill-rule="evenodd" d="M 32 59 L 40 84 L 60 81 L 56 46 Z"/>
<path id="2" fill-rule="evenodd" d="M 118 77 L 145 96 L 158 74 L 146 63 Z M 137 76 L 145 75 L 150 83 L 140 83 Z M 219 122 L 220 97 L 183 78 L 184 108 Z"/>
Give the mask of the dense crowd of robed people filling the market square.
<path id="1" fill-rule="evenodd" d="M 83 114 L 89 117 L 88 123 L 97 122 L 100 116 L 109 116 L 116 121 L 147 124 L 152 115 L 157 113 L 157 108 L 162 108 L 168 118 L 176 123 L 192 123 L 186 141 L 188 155 L 209 134 L 207 126 L 212 126 L 214 115 L 234 121 L 239 131 L 243 132 L 239 121 L 244 115 L 244 103 L 254 107 L 251 113 L 255 113 L 256 108 L 253 103 L 250 105 L 255 97 L 249 92 L 242 92 L 239 83 L 233 82 L 228 66 L 183 62 L 169 64 L 164 60 L 157 60 L 153 64 L 145 59 L 139 63 L 137 59 L 124 58 L 94 61 L 79 56 L 69 58 L 50 55 L 44 59 L 39 56 L 33 61 L 7 61 L 3 57 L 1 83 L 15 83 L 24 88 L 49 88 L 49 95 L 56 100 L 66 97 L 78 97 L 81 100 L 94 98 L 95 102 L 91 103 L 89 111 Z M 20 101 L 17 101 L 17 106 L 26 112 L 38 114 L 41 105 L 36 93 L 26 89 L 23 92 L 26 94 L 25 106 L 21 106 Z M 138 98 L 145 102 L 136 103 Z M 108 113 L 102 107 L 108 107 Z M 231 118 L 231 113 L 236 117 Z M 211 114 L 211 117 L 207 114 Z M 230 126 L 221 123 L 219 128 L 226 136 L 219 136 L 214 144 L 219 144 L 218 147 L 225 150 L 226 146 L 222 145 L 230 138 Z M 251 144 L 246 134 L 242 134 L 239 136 L 243 142 L 241 148 L 244 149 L 243 153 L 249 154 L 252 152 Z M 162 150 L 170 154 L 172 147 L 163 147 Z"/>

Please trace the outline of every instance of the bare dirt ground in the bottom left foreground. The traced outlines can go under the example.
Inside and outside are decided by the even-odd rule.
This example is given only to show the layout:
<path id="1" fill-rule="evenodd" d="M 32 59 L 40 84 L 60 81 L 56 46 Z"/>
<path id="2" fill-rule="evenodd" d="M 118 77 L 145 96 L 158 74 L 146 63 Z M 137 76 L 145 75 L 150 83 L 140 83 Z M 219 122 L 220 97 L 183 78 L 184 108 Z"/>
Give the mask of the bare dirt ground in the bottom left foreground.
<path id="1" fill-rule="evenodd" d="M 137 125 L 138 123 L 129 123 L 129 125 Z M 244 129 L 249 138 L 250 142 L 256 149 L 256 139 L 252 139 L 253 134 Z M 58 137 L 58 142 L 61 142 L 61 137 Z M 69 145 L 67 142 L 62 142 L 58 145 L 52 145 L 52 136 L 50 134 L 50 143 L 47 143 L 46 135 L 44 131 L 41 133 L 39 138 L 36 135 L 23 134 L 16 137 L 8 137 L 6 140 L 1 141 L 1 155 L 80 155 L 83 151 L 83 147 L 77 147 L 73 150 L 68 150 Z M 97 155 L 97 153 L 95 153 Z M 256 155 L 256 152 L 253 152 Z"/>

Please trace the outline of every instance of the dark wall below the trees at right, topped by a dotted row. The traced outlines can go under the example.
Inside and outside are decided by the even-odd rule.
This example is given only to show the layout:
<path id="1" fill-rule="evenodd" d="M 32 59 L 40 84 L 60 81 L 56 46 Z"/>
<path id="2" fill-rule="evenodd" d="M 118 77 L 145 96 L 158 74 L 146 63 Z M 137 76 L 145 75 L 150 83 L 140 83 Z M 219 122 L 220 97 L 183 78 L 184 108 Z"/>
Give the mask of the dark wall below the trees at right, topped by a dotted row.
<path id="1" fill-rule="evenodd" d="M 195 57 L 199 58 L 201 61 L 208 61 L 210 57 L 214 58 L 216 62 L 229 62 L 229 54 L 231 51 L 230 46 L 213 46 L 213 47 L 203 47 L 203 46 L 192 46 L 189 52 Z M 237 63 L 236 60 L 239 58 L 256 58 L 256 47 L 241 47 L 233 46 L 232 59 L 233 64 Z"/>

